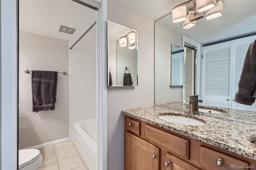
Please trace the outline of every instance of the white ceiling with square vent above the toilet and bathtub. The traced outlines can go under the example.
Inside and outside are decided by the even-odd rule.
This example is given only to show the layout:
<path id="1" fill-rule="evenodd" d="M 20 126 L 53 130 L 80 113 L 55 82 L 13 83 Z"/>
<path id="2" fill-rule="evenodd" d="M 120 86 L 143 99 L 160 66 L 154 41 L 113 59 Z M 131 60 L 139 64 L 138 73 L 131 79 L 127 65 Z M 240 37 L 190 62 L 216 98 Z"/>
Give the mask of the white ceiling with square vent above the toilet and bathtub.
<path id="1" fill-rule="evenodd" d="M 95 22 L 96 11 L 71 0 L 20 0 L 19 30 L 69 40 L 70 46 Z M 73 35 L 60 25 L 75 28 Z M 90 41 L 88 41 L 90 40 Z M 96 44 L 96 25 L 81 42 Z"/>

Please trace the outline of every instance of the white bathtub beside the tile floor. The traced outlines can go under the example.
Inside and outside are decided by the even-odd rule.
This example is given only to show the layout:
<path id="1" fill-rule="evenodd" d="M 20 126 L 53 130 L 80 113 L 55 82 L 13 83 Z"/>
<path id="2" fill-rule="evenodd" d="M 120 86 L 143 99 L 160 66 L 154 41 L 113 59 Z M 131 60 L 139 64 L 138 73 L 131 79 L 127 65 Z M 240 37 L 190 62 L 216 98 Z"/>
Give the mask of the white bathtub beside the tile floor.
<path id="1" fill-rule="evenodd" d="M 96 125 L 96 119 L 77 122 L 73 125 L 72 140 L 89 170 L 97 169 Z"/>

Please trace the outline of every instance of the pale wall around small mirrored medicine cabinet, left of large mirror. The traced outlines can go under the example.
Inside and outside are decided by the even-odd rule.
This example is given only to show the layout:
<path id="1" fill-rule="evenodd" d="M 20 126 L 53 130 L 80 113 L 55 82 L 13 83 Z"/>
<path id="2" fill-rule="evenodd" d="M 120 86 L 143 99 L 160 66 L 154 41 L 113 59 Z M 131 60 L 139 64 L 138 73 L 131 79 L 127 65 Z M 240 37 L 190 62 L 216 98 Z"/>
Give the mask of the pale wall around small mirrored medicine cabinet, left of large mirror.
<path id="1" fill-rule="evenodd" d="M 116 0 L 108 0 L 108 20 L 138 31 L 138 86 L 108 87 L 108 170 L 122 170 L 124 115 L 121 111 L 154 105 L 154 20 Z"/>

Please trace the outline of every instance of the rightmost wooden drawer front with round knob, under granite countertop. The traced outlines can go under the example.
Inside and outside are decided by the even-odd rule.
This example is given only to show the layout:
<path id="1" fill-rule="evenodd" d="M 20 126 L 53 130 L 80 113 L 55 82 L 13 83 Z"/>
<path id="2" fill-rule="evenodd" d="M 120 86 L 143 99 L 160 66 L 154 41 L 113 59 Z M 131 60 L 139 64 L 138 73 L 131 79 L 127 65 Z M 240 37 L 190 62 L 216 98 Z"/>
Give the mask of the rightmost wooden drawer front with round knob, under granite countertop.
<path id="1" fill-rule="evenodd" d="M 221 159 L 221 160 L 218 160 Z M 217 165 L 217 161 L 219 166 Z M 239 168 L 239 166 L 248 166 L 247 162 L 222 154 L 204 146 L 200 147 L 200 166 L 206 170 L 248 170 L 248 168 Z M 236 168 L 235 168 L 236 166 Z"/>

